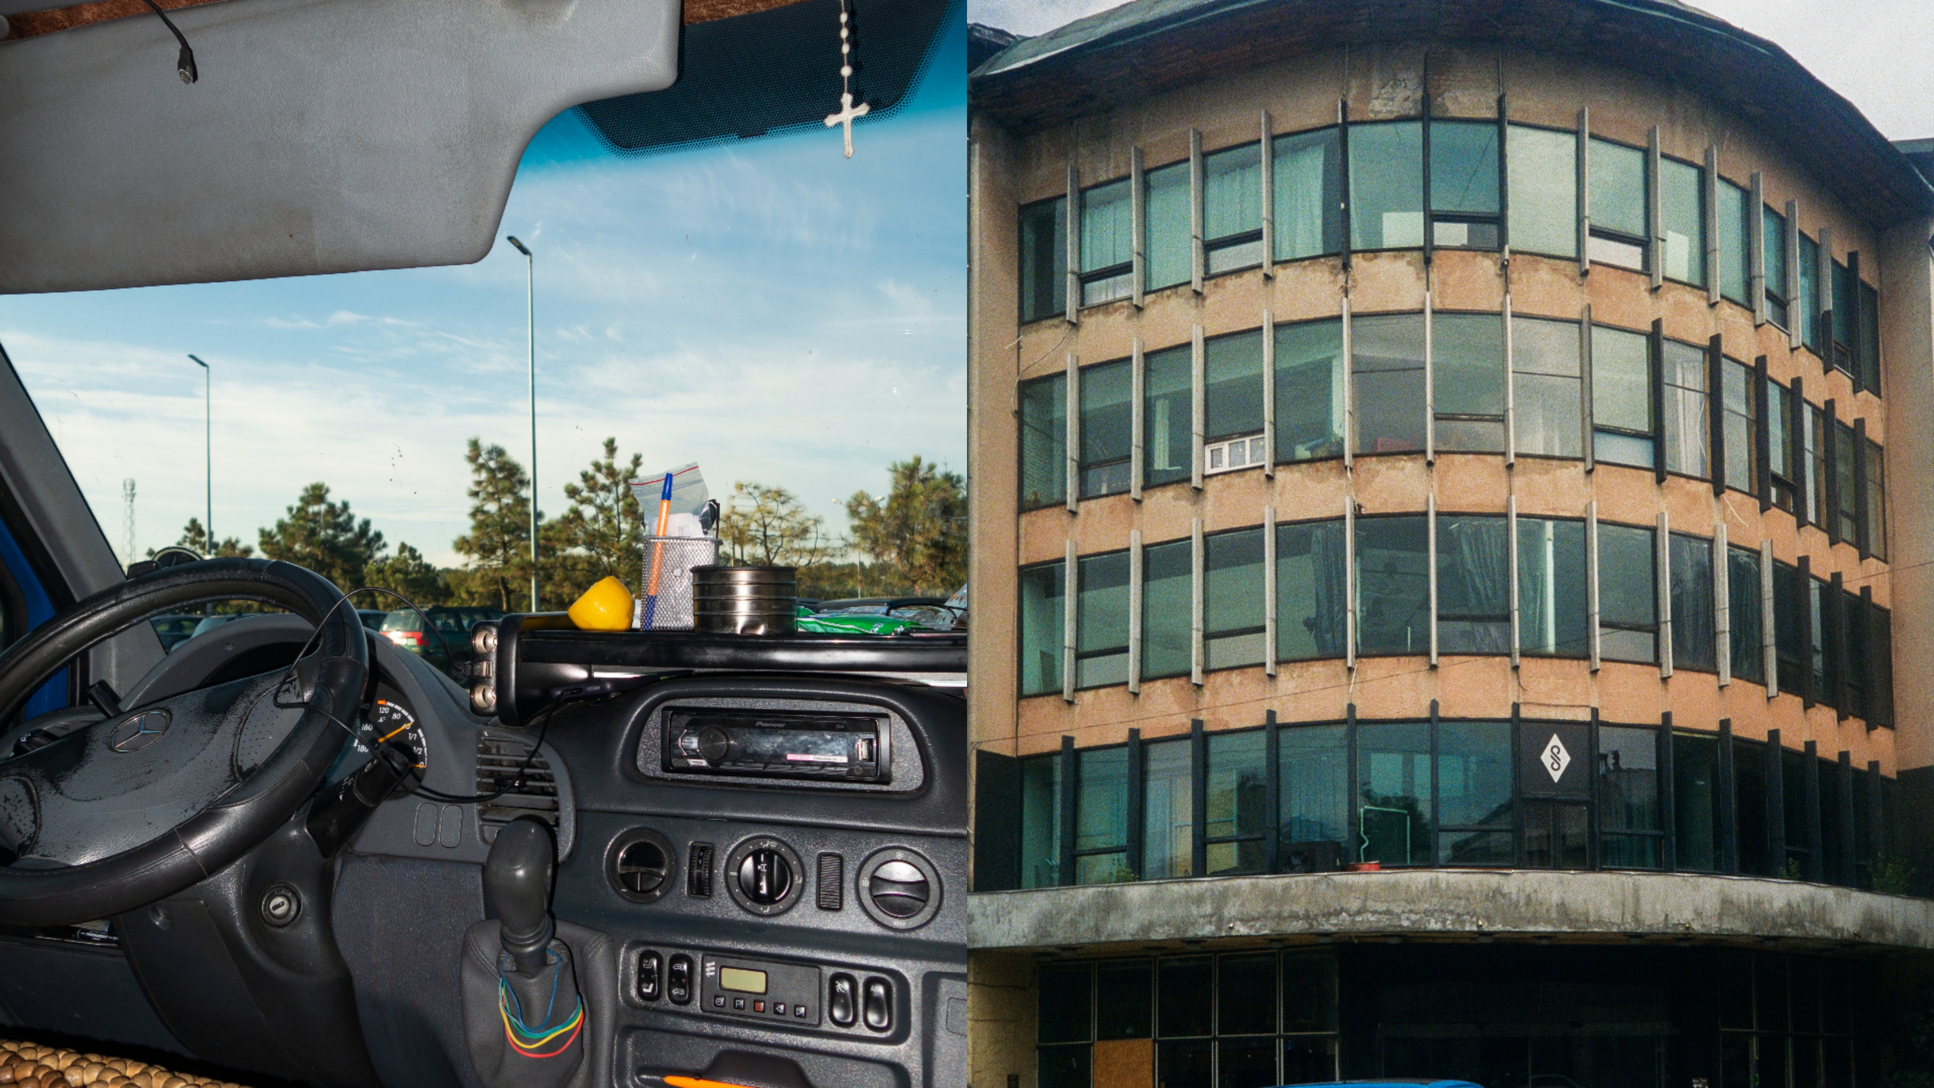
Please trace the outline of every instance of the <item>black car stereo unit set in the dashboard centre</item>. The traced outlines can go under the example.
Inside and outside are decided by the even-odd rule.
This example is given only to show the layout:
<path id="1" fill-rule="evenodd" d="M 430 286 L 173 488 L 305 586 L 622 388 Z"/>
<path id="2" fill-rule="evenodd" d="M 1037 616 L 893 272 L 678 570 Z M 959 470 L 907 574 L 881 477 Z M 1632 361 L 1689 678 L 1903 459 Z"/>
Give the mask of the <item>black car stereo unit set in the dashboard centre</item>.
<path id="1" fill-rule="evenodd" d="M 892 736 L 884 714 L 667 707 L 663 769 L 884 784 Z"/>

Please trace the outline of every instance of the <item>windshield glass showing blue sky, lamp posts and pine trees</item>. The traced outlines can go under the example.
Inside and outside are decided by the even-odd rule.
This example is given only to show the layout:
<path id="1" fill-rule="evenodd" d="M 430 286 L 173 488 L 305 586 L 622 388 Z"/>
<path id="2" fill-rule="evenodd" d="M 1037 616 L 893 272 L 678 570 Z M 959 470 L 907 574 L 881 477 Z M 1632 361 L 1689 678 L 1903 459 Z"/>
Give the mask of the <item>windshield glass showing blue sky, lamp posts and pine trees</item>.
<path id="1" fill-rule="evenodd" d="M 801 596 L 950 592 L 963 58 L 948 21 L 851 159 L 824 126 L 621 153 L 572 108 L 476 265 L 8 296 L 0 345 L 124 563 L 182 544 L 561 610 L 636 590 L 656 511 L 623 484 L 698 463 L 727 561 L 797 565 Z M 938 569 L 880 530 L 915 492 L 957 536 Z"/>

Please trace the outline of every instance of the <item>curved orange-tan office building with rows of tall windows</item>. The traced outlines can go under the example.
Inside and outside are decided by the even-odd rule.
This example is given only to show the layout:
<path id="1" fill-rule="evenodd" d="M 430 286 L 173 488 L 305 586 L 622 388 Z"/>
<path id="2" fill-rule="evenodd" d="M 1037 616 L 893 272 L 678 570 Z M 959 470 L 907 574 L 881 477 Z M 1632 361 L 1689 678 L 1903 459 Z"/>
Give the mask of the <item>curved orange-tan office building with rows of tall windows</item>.
<path id="1" fill-rule="evenodd" d="M 971 112 L 973 1084 L 1911 1061 L 1911 157 L 1673 0 L 1133 0 Z"/>

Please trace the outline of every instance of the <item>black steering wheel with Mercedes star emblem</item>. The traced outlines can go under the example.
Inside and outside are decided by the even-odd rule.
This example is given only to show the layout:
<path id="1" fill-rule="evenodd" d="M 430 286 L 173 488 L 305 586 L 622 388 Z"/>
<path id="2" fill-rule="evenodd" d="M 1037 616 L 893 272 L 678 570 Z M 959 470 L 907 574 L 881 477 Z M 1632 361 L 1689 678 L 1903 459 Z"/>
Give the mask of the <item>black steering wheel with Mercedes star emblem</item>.
<path id="1" fill-rule="evenodd" d="M 354 728 L 369 645 L 342 592 L 294 563 L 162 567 L 75 602 L 0 654 L 0 720 L 87 647 L 193 600 L 255 600 L 317 625 L 294 668 L 128 707 L 0 759 L 0 923 L 73 925 L 195 885 L 267 840 Z"/>

